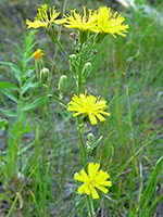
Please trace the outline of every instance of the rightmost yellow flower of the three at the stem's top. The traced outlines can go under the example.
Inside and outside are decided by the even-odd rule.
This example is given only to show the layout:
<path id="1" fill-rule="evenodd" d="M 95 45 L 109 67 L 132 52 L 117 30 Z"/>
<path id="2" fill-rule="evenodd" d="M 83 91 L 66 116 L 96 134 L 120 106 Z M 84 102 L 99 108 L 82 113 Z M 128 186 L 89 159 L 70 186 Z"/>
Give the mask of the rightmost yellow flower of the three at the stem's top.
<path id="1" fill-rule="evenodd" d="M 112 15 L 110 8 L 100 7 L 97 15 L 97 26 L 91 27 L 91 31 L 111 34 L 114 38 L 116 38 L 115 34 L 125 37 L 128 25 L 123 25 L 124 21 L 125 18 L 121 14 L 117 16 L 117 12 Z"/>

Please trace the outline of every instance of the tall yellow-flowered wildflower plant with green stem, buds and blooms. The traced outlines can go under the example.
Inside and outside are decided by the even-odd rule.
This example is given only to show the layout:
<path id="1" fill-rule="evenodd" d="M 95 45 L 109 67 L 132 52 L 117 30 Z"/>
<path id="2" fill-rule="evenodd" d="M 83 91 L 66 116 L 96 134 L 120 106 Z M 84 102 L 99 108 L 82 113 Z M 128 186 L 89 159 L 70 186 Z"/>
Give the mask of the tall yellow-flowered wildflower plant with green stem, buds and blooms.
<path id="1" fill-rule="evenodd" d="M 30 22 L 27 20 L 26 24 L 27 28 L 42 27 L 70 62 L 70 71 L 73 73 L 73 77 L 76 81 L 76 92 L 72 99 L 70 99 L 70 102 L 64 102 L 64 91 L 66 87 L 68 88 L 66 76 L 62 75 L 59 80 L 59 95 L 53 93 L 49 88 L 49 69 L 45 69 L 43 64 L 42 68 L 40 68 L 41 64 L 38 64 L 38 62 L 42 61 L 42 55 L 45 53 L 41 53 L 41 50 L 38 49 L 33 54 L 36 59 L 38 78 L 43 87 L 65 107 L 65 110 L 74 112 L 73 116 L 76 117 L 83 150 L 83 169 L 79 174 L 77 173 L 74 175 L 74 179 L 84 182 L 84 184 L 79 187 L 78 193 L 85 193 L 87 195 L 89 216 L 92 217 L 95 214 L 92 200 L 99 199 L 96 189 L 99 189 L 106 194 L 109 192 L 108 187 L 111 187 L 112 182 L 110 180 L 108 181 L 108 178 L 110 178 L 108 171 L 99 170 L 100 164 L 89 163 L 88 159 L 88 152 L 92 151 L 98 145 L 102 137 L 97 138 L 96 140 L 95 136 L 89 132 L 89 141 L 85 142 L 83 133 L 87 124 L 91 124 L 92 126 L 97 125 L 97 119 L 106 122 L 110 113 L 108 111 L 108 102 L 102 97 L 97 98 L 89 93 L 89 87 L 84 90 L 83 85 L 87 82 L 87 78 L 91 74 L 91 61 L 96 54 L 95 48 L 97 43 L 102 42 L 108 35 L 112 35 L 114 38 L 116 38 L 116 35 L 125 37 L 128 25 L 123 24 L 125 20 L 122 15 L 117 15 L 117 12 L 112 14 L 111 9 L 106 7 L 100 7 L 95 11 L 90 9 L 88 10 L 88 13 L 85 7 L 83 10 L 84 13 L 78 14 L 74 9 L 71 11 L 71 14 L 64 14 L 62 20 L 58 20 L 59 12 L 55 11 L 54 7 L 48 10 L 47 5 L 42 5 L 38 9 L 35 21 Z M 63 26 L 68 29 L 77 29 L 77 33 L 71 33 L 70 35 L 75 44 L 75 53 L 71 55 L 65 52 L 59 40 L 58 25 L 60 24 L 63 24 Z M 45 79 L 42 79 L 42 76 Z M 85 94 L 83 93 L 84 91 Z"/>

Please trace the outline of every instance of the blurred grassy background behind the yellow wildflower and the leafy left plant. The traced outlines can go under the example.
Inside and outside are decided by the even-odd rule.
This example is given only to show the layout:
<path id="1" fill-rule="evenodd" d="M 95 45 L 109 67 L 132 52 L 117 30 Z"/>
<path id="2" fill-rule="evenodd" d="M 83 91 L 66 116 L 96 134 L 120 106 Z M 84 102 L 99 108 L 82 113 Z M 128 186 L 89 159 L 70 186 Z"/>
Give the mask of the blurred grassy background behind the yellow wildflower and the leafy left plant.
<path id="1" fill-rule="evenodd" d="M 95 10 L 106 5 L 112 8 L 113 12 L 117 11 L 122 14 L 125 24 L 129 25 L 125 38 L 117 36 L 115 39 L 108 36 L 97 46 L 98 54 L 92 61 L 93 69 L 87 85 L 83 88 L 84 91 L 87 87 L 93 95 L 102 95 L 109 102 L 111 112 L 106 123 L 91 128 L 96 138 L 102 133 L 103 140 L 93 151 L 90 161 L 100 162 L 103 170 L 108 170 L 111 175 L 113 182 L 109 196 L 95 202 L 96 216 L 131 216 L 129 181 L 133 165 L 131 146 L 135 143 L 137 170 L 131 183 L 133 216 L 162 217 L 163 203 L 158 199 L 163 193 L 163 167 L 158 167 L 158 161 L 163 153 L 163 1 L 0 0 L 1 63 L 18 64 L 16 56 L 20 51 L 15 48 L 15 43 L 24 49 L 24 38 L 30 33 L 26 29 L 25 21 L 34 21 L 37 9 L 45 3 L 48 7 L 55 5 L 61 12 L 60 17 L 63 16 L 63 12 L 70 14 L 70 10 L 73 9 L 82 13 L 84 5 Z M 71 31 L 72 29 L 61 27 L 61 43 L 68 54 L 75 51 L 68 36 Z M 46 67 L 51 71 L 50 88 L 53 92 L 58 92 L 60 76 L 63 74 L 67 76 L 68 88 L 64 101 L 68 102 L 76 92 L 68 61 L 57 50 L 43 29 L 37 30 L 33 39 L 33 53 L 39 48 L 46 54 L 43 61 Z M 30 59 L 28 65 L 34 66 L 34 62 L 35 60 Z M 0 64 L 0 81 L 17 84 L 12 68 L 4 64 Z M 30 90 L 30 99 L 27 98 L 27 102 L 33 102 L 45 94 L 47 92 L 43 87 Z M 15 104 L 11 98 L 0 92 L 0 106 L 2 108 L 0 117 L 7 118 L 12 128 L 14 118 L 8 116 L 3 110 L 14 111 Z M 1 170 L 0 217 L 8 216 L 15 192 L 24 182 L 26 187 L 22 193 L 23 205 L 20 209 L 15 208 L 11 216 L 87 216 L 85 199 L 80 200 L 73 192 L 77 188 L 73 176 L 75 171 L 79 171 L 82 163 L 78 161 L 80 148 L 72 114 L 54 100 L 49 99 L 28 112 L 27 122 L 30 130 L 23 136 L 21 145 L 24 148 L 35 141 L 34 146 L 25 153 L 25 157 L 33 166 L 39 162 L 39 168 L 37 176 L 32 177 L 27 182 L 25 178 L 20 178 L 21 181 L 16 182 L 17 189 L 14 181 L 4 180 Z M 85 139 L 87 140 L 87 135 Z M 5 155 L 7 140 L 8 135 L 2 132 L 0 135 L 1 156 Z M 37 156 L 36 146 L 39 150 Z M 49 164 L 50 175 L 46 188 L 50 193 L 42 187 Z M 28 177 L 32 168 L 25 161 L 20 165 L 21 174 Z M 11 200 L 4 199 L 4 195 Z"/>

